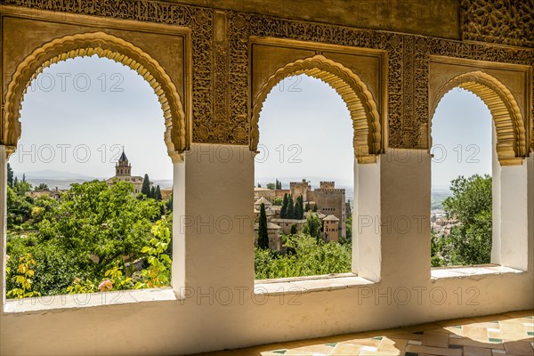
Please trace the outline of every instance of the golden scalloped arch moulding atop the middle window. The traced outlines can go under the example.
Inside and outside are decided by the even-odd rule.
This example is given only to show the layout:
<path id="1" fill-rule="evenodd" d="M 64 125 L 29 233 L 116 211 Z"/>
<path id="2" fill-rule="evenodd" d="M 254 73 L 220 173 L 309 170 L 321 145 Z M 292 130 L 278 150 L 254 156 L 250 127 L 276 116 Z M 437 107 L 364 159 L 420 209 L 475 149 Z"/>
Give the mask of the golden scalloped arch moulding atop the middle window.
<path id="1" fill-rule="evenodd" d="M 342 64 L 317 54 L 310 58 L 288 63 L 276 70 L 262 85 L 254 98 L 250 120 L 250 149 L 257 150 L 259 142 L 259 117 L 263 102 L 272 88 L 285 77 L 305 74 L 330 85 L 343 98 L 352 117 L 354 130 L 354 155 L 360 163 L 376 161 L 382 150 L 382 124 L 376 101 L 368 86 Z"/>

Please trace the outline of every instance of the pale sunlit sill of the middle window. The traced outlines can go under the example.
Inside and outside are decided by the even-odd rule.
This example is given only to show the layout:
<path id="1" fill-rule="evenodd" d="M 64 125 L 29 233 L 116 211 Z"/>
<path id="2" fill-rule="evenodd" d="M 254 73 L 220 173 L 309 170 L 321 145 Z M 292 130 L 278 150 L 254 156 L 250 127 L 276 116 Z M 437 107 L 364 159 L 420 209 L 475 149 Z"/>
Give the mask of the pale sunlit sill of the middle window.
<path id="1" fill-rule="evenodd" d="M 282 295 L 346 289 L 374 283 L 354 273 L 336 273 L 287 279 L 256 279 L 254 288 L 256 295 Z"/>

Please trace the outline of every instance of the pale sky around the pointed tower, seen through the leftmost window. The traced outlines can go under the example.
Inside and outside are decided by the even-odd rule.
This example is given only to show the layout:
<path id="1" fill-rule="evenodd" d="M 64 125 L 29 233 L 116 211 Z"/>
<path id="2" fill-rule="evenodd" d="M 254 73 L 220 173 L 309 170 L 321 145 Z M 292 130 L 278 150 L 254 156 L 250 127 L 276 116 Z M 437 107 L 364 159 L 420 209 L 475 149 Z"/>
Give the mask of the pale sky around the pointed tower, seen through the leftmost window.
<path id="1" fill-rule="evenodd" d="M 44 69 L 28 88 L 20 122 L 19 150 L 10 159 L 15 173 L 110 177 L 124 145 L 133 174 L 172 177 L 158 98 L 141 76 L 115 61 L 93 56 Z"/>

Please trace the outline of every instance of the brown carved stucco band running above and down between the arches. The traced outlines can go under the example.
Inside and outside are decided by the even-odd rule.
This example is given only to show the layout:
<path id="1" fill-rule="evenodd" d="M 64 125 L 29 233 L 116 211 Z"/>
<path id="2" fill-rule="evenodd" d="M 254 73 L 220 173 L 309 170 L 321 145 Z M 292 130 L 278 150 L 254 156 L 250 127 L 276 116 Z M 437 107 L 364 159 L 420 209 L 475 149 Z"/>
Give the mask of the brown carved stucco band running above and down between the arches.
<path id="1" fill-rule="evenodd" d="M 3 3 L 191 28 L 193 142 L 250 143 L 248 127 L 251 108 L 247 101 L 250 36 L 271 36 L 387 51 L 388 146 L 392 148 L 428 148 L 428 77 L 431 55 L 524 65 L 534 62 L 534 51 L 530 48 L 347 28 L 247 12 L 214 11 L 184 4 L 147 0 L 5 0 Z M 516 18 L 511 16 L 510 20 Z M 519 17 L 520 21 L 522 19 L 523 17 Z M 484 23 L 480 26 L 484 26 Z M 516 26 L 521 26 L 521 23 Z M 473 39 L 474 35 L 468 35 L 473 33 L 473 30 L 465 31 L 464 38 Z M 476 39 L 480 39 L 480 36 Z M 529 120 L 532 119 L 531 111 L 530 108 Z M 534 142 L 531 141 L 533 136 L 534 134 L 530 134 L 530 142 L 534 147 Z"/>

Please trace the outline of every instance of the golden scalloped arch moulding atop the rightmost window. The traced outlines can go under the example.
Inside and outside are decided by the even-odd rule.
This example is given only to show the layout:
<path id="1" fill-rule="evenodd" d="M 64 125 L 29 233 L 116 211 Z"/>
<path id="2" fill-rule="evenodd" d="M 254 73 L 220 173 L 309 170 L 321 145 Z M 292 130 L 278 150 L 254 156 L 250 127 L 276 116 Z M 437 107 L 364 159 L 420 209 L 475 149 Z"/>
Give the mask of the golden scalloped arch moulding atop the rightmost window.
<path id="1" fill-rule="evenodd" d="M 502 166 L 521 165 L 529 155 L 527 127 L 514 95 L 497 78 L 482 71 L 473 71 L 452 78 L 436 93 L 430 117 L 446 93 L 460 87 L 474 93 L 488 106 L 497 132 L 497 155 Z"/>

